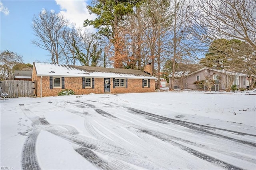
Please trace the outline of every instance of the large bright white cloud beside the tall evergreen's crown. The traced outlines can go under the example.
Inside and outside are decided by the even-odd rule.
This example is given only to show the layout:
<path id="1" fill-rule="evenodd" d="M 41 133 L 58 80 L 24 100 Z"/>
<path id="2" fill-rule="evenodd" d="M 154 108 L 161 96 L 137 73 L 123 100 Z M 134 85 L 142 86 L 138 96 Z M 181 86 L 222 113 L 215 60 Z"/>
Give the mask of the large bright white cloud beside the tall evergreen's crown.
<path id="1" fill-rule="evenodd" d="M 62 14 L 71 23 L 75 23 L 76 27 L 83 27 L 84 20 L 93 20 L 95 15 L 90 15 L 84 0 L 55 0 L 60 6 L 60 14 Z M 92 26 L 87 27 L 89 31 L 95 32 Z"/>

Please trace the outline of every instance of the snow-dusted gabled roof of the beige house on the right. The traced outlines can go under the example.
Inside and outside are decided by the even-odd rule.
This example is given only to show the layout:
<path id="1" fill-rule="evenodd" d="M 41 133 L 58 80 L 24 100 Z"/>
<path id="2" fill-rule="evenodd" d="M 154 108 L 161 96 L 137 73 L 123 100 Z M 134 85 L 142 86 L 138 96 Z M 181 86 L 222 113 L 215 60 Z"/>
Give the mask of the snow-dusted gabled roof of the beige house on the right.
<path id="1" fill-rule="evenodd" d="M 188 70 L 188 71 L 178 71 L 178 72 L 175 72 L 174 76 L 175 77 L 181 77 L 181 76 L 190 76 L 192 74 L 196 74 L 197 72 L 200 72 L 202 70 L 212 70 L 212 71 L 215 71 L 215 72 L 220 72 L 220 73 L 223 73 L 223 74 L 227 74 L 227 75 L 236 75 L 236 76 L 247 76 L 247 74 L 243 74 L 243 73 L 240 73 L 240 72 L 233 72 L 233 71 L 229 71 L 229 70 L 218 70 L 218 69 L 215 69 L 215 68 L 208 68 L 208 67 L 204 67 L 204 68 L 201 68 L 199 70 L 196 70 L 196 71 L 191 71 L 191 70 Z M 169 74 L 168 77 L 172 77 L 172 74 Z"/>

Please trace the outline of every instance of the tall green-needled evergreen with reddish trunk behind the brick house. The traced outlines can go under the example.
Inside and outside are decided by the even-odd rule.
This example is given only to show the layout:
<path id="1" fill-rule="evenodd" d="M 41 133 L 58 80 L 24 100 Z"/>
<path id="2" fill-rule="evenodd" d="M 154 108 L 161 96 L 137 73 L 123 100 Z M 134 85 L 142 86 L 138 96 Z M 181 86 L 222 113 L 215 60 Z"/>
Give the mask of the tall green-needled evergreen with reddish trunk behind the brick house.
<path id="1" fill-rule="evenodd" d="M 106 36 L 114 45 L 114 67 L 121 68 L 121 51 L 118 45 L 119 31 L 125 16 L 133 12 L 133 6 L 138 0 L 93 0 L 92 6 L 87 6 L 91 14 L 96 14 L 95 20 L 85 20 L 84 26 L 93 25 L 98 33 Z"/>

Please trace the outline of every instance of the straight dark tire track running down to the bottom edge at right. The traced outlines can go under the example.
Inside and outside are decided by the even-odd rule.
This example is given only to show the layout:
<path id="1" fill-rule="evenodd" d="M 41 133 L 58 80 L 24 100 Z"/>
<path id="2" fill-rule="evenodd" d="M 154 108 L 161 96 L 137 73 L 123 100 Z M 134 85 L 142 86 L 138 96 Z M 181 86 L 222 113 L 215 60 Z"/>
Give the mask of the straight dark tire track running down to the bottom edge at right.
<path id="1" fill-rule="evenodd" d="M 158 138 L 158 139 L 160 139 L 160 140 L 162 140 L 162 141 L 170 142 L 170 143 L 172 143 L 174 146 L 179 147 L 180 149 L 185 150 L 186 152 L 188 152 L 188 153 L 190 153 L 190 154 L 192 154 L 192 155 L 194 155 L 194 156 L 196 156 L 196 157 L 198 157 L 198 158 L 200 158 L 200 159 L 202 159 L 202 160 L 206 160 L 206 161 L 211 162 L 211 163 L 213 163 L 213 164 L 215 164 L 215 165 L 217 165 L 217 166 L 221 166 L 222 168 L 225 168 L 225 169 L 228 169 L 228 170 L 234 170 L 234 169 L 236 169 L 236 170 L 242 170 L 242 168 L 239 168 L 239 167 L 237 167 L 237 166 L 228 164 L 228 163 L 226 163 L 226 162 L 224 162 L 224 161 L 222 161 L 222 160 L 219 160 L 219 159 L 217 159 L 217 158 L 214 158 L 214 157 L 212 157 L 212 156 L 209 156 L 209 155 L 207 155 L 207 154 L 204 154 L 204 153 L 202 153 L 202 152 L 199 152 L 198 150 L 191 149 L 191 148 L 186 147 L 186 146 L 184 146 L 184 145 L 182 145 L 182 144 L 180 144 L 180 143 L 177 143 L 177 142 L 172 141 L 172 140 L 170 140 L 170 139 L 164 138 L 164 137 L 162 137 L 162 136 L 160 136 L 160 135 L 158 135 L 158 134 L 156 134 L 156 133 L 152 133 L 152 131 L 141 130 L 141 132 L 146 133 L 146 134 L 148 134 L 148 135 L 151 135 L 151 136 L 153 136 L 153 137 L 156 137 L 156 138 Z"/>

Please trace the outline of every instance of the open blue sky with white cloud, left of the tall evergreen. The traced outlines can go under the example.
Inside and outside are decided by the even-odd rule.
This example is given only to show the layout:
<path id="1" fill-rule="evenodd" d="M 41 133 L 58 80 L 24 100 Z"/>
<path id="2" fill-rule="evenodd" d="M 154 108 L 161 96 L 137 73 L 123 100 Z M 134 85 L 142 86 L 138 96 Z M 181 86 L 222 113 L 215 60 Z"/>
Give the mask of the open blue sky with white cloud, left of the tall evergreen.
<path id="1" fill-rule="evenodd" d="M 62 13 L 76 26 L 82 26 L 86 18 L 93 19 L 86 5 L 89 0 L 1 0 L 0 1 L 0 50 L 22 55 L 24 63 L 49 61 L 49 52 L 32 44 L 35 39 L 32 18 L 42 9 Z M 89 28 L 90 29 L 90 28 Z"/>

